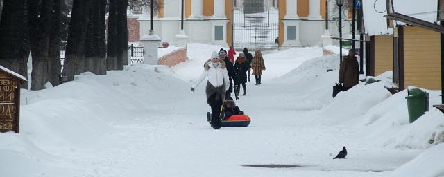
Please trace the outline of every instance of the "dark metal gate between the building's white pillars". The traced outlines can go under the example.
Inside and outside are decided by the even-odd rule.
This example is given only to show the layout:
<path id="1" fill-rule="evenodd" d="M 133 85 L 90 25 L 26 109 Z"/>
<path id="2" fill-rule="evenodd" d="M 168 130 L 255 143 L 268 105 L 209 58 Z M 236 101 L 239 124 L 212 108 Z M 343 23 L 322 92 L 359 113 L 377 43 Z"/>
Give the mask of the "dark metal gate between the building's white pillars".
<path id="1" fill-rule="evenodd" d="M 277 10 L 244 14 L 234 11 L 233 46 L 237 50 L 278 48 L 279 20 Z"/>

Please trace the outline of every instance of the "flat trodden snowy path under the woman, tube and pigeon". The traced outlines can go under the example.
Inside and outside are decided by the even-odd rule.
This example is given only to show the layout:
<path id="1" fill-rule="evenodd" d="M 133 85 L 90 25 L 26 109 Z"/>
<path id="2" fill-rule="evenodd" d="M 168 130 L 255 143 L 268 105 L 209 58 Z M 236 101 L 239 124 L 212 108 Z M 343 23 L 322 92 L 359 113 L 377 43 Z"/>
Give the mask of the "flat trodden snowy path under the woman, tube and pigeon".
<path id="1" fill-rule="evenodd" d="M 250 82 L 248 88 L 238 102 L 253 118 L 248 128 L 209 127 L 200 90 L 160 105 L 166 109 L 115 122 L 114 133 L 104 140 L 112 143 L 73 157 L 80 157 L 77 165 L 92 170 L 86 171 L 92 176 L 384 176 L 379 171 L 393 170 L 411 158 L 402 151 L 368 147 L 353 139 L 350 129 L 323 124 L 318 107 L 291 104 L 301 100 L 291 99 L 295 92 L 284 83 Z M 348 146 L 348 159 L 332 160 L 343 145 Z M 268 164 L 304 167 L 241 166 Z"/>

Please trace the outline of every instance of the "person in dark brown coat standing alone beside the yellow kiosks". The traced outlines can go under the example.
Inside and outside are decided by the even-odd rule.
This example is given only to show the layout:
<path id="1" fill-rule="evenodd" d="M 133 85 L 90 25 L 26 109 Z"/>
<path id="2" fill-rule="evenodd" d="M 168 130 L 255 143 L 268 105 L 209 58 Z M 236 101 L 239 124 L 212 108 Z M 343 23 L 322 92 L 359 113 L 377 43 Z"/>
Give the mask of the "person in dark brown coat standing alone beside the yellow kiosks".
<path id="1" fill-rule="evenodd" d="M 350 49 L 343 57 L 339 68 L 339 83 L 343 84 L 343 91 L 347 91 L 359 82 L 359 64 L 355 57 L 355 50 Z"/>

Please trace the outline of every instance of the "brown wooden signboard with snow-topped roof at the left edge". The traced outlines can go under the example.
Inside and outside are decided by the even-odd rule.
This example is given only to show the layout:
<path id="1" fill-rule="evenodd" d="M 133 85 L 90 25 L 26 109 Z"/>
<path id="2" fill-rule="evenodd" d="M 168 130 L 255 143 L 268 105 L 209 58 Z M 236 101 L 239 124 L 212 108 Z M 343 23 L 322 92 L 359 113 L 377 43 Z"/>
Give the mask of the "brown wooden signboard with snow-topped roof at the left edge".
<path id="1" fill-rule="evenodd" d="M 26 79 L 0 66 L 0 132 L 19 133 L 20 85 Z"/>

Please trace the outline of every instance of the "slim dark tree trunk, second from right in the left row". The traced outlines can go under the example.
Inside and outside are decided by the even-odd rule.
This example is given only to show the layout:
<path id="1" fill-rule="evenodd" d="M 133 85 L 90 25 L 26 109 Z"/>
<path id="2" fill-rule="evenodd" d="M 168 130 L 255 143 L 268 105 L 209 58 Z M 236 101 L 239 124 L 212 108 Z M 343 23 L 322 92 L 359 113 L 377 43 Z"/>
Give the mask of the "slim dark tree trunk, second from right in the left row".
<path id="1" fill-rule="evenodd" d="M 109 70 L 117 69 L 117 0 L 109 0 L 108 39 L 106 65 Z"/>

